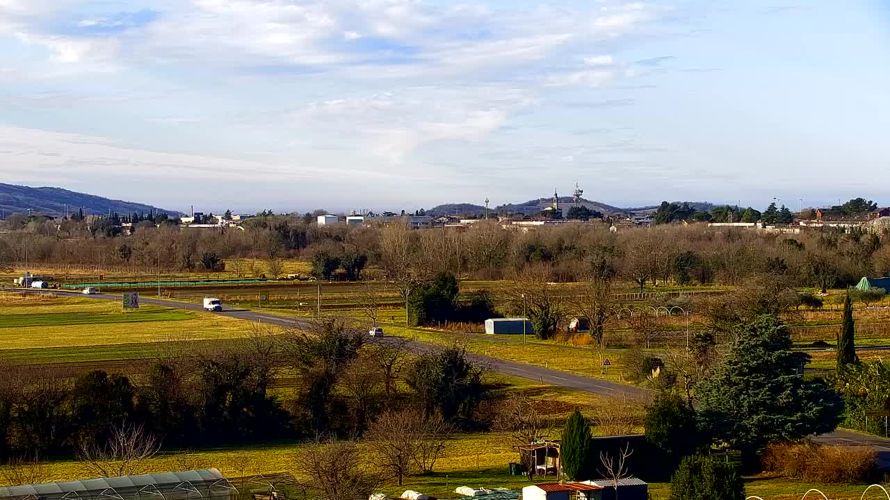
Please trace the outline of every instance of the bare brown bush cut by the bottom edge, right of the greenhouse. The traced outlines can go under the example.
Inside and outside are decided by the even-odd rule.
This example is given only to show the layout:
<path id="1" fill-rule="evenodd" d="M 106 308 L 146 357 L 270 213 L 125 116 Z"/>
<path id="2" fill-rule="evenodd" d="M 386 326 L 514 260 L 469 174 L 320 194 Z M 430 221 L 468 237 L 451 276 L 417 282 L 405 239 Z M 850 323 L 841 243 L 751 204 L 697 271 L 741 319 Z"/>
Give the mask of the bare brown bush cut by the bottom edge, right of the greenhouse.
<path id="1" fill-rule="evenodd" d="M 320 500 L 366 500 L 379 484 L 376 464 L 352 441 L 316 440 L 297 456 L 303 488 Z"/>

